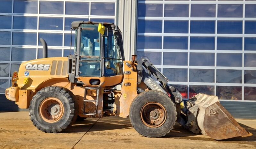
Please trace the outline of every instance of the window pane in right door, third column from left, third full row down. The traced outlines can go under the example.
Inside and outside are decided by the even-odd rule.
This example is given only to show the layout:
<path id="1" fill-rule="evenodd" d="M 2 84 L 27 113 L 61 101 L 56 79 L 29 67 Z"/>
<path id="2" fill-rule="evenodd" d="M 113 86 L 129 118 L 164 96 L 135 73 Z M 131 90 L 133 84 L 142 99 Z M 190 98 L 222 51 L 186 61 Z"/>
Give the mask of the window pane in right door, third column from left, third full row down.
<path id="1" fill-rule="evenodd" d="M 215 37 L 190 37 L 190 50 L 215 50 Z"/>

